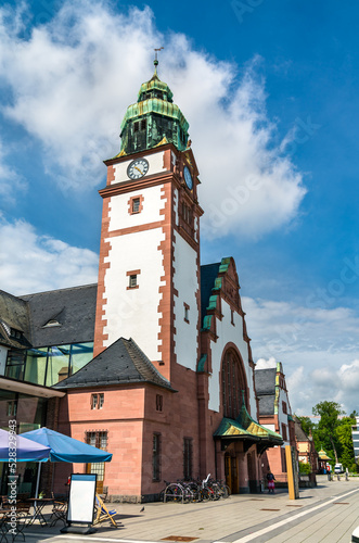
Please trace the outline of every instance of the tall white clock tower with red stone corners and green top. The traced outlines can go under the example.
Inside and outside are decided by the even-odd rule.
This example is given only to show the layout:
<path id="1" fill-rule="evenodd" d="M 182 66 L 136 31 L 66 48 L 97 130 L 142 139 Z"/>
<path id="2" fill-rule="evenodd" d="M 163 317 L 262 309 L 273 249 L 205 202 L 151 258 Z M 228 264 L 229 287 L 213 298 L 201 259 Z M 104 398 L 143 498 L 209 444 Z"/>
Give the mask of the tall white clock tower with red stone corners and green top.
<path id="1" fill-rule="evenodd" d="M 94 356 L 132 338 L 169 381 L 200 358 L 198 172 L 189 124 L 157 75 L 121 123 L 105 161 Z M 175 371 L 176 372 L 176 371 Z"/>

